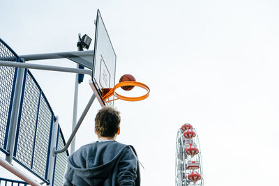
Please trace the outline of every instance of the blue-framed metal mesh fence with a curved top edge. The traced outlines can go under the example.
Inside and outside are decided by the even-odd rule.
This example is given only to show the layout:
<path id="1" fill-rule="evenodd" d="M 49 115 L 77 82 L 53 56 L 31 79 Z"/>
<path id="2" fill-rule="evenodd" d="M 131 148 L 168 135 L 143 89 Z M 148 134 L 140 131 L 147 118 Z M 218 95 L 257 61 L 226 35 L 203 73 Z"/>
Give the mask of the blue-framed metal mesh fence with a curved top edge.
<path id="1" fill-rule="evenodd" d="M 1 38 L 0 61 L 21 61 Z M 44 183 L 61 185 L 68 151 L 58 155 L 53 151 L 65 144 L 52 108 L 31 72 L 0 66 L 0 150 L 7 162 L 15 160 Z"/>

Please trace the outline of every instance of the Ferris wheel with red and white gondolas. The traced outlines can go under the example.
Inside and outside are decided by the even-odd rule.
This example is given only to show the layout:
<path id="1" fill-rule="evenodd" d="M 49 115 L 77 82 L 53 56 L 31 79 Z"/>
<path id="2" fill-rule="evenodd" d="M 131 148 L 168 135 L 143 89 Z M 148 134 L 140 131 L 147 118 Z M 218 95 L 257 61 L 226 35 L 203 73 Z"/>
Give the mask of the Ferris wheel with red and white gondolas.
<path id="1" fill-rule="evenodd" d="M 185 123 L 176 136 L 176 186 L 204 186 L 202 154 L 195 128 Z"/>

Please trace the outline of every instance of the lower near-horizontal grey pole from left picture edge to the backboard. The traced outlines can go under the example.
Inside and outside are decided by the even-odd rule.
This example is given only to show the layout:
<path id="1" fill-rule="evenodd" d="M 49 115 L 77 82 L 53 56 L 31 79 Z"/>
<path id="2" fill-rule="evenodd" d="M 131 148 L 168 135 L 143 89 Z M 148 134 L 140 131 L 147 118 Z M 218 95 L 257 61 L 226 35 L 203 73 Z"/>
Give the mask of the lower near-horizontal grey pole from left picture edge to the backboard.
<path id="1" fill-rule="evenodd" d="M 13 63 L 10 61 L 1 61 L 1 60 L 0 60 L 0 66 L 31 68 L 31 69 L 38 69 L 38 70 L 51 70 L 51 71 L 59 71 L 59 72 L 73 72 L 78 74 L 86 74 L 90 76 L 92 75 L 91 70 L 67 68 L 67 67 L 51 66 L 51 65 L 39 65 L 39 64 L 31 64 L 31 63 Z"/>

